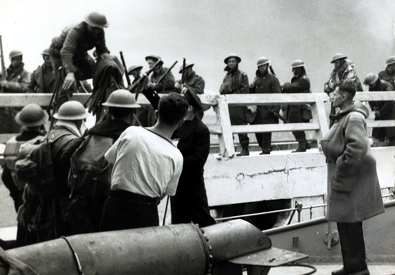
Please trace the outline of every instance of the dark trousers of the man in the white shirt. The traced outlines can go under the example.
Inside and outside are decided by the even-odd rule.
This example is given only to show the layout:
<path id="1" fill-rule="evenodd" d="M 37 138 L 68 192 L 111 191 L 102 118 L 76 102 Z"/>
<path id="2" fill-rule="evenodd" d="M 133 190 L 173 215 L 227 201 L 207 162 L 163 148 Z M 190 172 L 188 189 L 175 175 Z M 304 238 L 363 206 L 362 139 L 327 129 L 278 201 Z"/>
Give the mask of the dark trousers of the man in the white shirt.
<path id="1" fill-rule="evenodd" d="M 156 198 L 111 190 L 104 203 L 100 231 L 159 226 Z"/>

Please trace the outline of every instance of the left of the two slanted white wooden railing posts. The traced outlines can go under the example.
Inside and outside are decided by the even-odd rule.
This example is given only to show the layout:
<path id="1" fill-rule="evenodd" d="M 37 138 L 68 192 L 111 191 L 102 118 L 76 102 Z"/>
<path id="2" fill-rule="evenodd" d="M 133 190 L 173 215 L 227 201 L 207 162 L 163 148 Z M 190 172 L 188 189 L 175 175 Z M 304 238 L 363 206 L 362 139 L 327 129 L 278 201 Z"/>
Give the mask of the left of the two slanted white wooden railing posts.
<path id="1" fill-rule="evenodd" d="M 231 157 L 235 154 L 235 145 L 233 144 L 233 133 L 230 126 L 230 117 L 228 103 L 226 96 L 220 95 L 218 97 L 218 105 L 213 106 L 216 113 L 217 127 L 220 127 L 221 132 L 218 134 L 218 142 L 220 152 L 223 157 Z"/>

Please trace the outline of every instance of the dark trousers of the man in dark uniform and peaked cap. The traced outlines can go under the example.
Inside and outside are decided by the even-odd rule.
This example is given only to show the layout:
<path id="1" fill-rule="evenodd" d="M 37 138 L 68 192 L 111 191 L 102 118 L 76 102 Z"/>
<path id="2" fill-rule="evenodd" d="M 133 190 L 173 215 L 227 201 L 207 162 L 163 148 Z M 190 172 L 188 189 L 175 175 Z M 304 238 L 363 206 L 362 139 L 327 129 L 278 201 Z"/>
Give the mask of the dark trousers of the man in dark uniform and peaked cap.
<path id="1" fill-rule="evenodd" d="M 170 198 L 171 223 L 194 223 L 200 227 L 215 224 L 210 215 L 206 188 L 203 183 L 177 187 L 175 196 Z"/>

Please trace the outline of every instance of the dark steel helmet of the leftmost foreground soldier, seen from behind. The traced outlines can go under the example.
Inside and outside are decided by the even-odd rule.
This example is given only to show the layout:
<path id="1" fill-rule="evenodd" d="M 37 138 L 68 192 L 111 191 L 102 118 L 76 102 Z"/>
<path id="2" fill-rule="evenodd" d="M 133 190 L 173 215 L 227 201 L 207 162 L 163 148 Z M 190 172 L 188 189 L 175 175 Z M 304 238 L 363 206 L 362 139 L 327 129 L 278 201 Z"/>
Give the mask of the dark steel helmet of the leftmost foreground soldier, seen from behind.
<path id="1" fill-rule="evenodd" d="M 45 112 L 37 104 L 28 104 L 21 112 L 17 113 L 15 116 L 15 121 L 22 126 L 33 127 L 44 124 L 49 118 L 47 112 Z"/>

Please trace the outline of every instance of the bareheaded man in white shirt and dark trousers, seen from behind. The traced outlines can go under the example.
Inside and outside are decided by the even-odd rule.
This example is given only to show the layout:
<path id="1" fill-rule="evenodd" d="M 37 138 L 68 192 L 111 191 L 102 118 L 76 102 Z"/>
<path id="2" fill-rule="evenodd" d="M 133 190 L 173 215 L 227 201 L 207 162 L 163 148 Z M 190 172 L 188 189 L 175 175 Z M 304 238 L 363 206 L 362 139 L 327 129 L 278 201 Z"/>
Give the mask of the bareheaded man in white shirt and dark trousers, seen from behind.
<path id="1" fill-rule="evenodd" d="M 113 170 L 100 231 L 159 226 L 157 202 L 175 195 L 182 171 L 181 152 L 170 138 L 187 109 L 181 95 L 164 95 L 154 126 L 127 128 L 105 153 Z"/>

